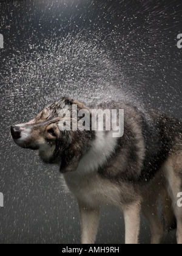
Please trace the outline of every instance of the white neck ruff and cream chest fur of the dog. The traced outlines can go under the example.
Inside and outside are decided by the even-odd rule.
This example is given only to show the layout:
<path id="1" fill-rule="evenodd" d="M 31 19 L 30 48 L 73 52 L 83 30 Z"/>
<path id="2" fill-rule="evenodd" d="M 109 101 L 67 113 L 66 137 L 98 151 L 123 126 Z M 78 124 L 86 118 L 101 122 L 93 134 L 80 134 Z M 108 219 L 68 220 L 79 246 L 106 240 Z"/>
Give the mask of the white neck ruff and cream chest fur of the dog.
<path id="1" fill-rule="evenodd" d="M 109 133 L 97 132 L 92 148 L 81 159 L 76 171 L 64 174 L 67 187 L 78 201 L 98 207 L 102 204 L 115 204 L 119 200 L 120 189 L 97 174 L 98 168 L 115 151 L 116 143 L 117 138 L 111 137 Z"/>

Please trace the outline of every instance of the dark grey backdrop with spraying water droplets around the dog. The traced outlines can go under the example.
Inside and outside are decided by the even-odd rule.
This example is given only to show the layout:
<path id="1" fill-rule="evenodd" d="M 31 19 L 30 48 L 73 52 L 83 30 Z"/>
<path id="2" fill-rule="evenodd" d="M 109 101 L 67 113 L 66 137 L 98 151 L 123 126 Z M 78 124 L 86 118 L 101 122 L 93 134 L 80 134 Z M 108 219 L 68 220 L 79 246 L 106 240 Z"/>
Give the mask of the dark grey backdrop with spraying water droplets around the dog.
<path id="1" fill-rule="evenodd" d="M 0 1 L 0 243 L 79 243 L 78 207 L 56 167 L 18 148 L 12 124 L 64 94 L 129 99 L 182 121 L 181 1 Z M 137 103 L 138 102 L 138 103 Z M 147 222 L 141 243 L 149 243 Z M 103 209 L 96 243 L 124 243 L 123 216 Z M 175 243 L 175 232 L 163 243 Z"/>

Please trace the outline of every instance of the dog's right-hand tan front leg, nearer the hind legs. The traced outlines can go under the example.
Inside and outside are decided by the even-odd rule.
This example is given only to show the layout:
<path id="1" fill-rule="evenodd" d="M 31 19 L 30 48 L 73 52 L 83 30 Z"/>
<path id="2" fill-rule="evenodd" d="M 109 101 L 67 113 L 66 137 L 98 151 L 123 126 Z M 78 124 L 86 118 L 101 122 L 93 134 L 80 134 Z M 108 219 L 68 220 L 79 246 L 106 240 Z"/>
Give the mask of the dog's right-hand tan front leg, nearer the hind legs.
<path id="1" fill-rule="evenodd" d="M 140 233 L 140 202 L 125 207 L 123 212 L 126 244 L 138 244 L 138 236 Z"/>

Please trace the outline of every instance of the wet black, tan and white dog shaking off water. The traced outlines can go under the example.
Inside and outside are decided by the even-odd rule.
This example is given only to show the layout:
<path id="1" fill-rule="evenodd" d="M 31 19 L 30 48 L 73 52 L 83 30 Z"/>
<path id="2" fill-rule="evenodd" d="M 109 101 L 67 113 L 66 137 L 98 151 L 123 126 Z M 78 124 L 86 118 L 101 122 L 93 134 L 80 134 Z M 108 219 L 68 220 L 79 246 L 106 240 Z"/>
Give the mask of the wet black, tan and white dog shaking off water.
<path id="1" fill-rule="evenodd" d="M 103 130 L 92 130 L 93 109 L 124 110 L 121 136 L 106 130 L 110 122 L 106 115 Z M 78 113 L 84 110 L 90 119 L 83 123 L 89 125 L 77 129 L 84 118 Z M 63 129 L 66 126 L 70 129 Z M 64 97 L 29 123 L 12 126 L 11 133 L 18 146 L 38 150 L 44 162 L 59 165 L 66 186 L 78 201 L 81 243 L 95 243 L 100 210 L 106 204 L 124 213 L 126 244 L 139 242 L 141 213 L 149 220 L 151 243 L 160 243 L 164 233 L 158 216 L 161 196 L 166 228 L 177 221 L 177 241 L 182 243 L 182 210 L 177 206 L 177 194 L 182 190 L 182 124 L 177 119 L 132 104 L 86 105 Z"/>

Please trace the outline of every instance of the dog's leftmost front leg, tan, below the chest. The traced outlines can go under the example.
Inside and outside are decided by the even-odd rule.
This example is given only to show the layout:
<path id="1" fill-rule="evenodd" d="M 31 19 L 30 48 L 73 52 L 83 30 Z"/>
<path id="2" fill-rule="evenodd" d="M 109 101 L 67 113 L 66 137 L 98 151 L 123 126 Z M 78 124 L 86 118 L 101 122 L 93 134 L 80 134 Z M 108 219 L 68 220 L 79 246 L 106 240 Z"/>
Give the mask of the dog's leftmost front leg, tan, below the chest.
<path id="1" fill-rule="evenodd" d="M 100 208 L 86 207 L 79 205 L 79 216 L 81 221 L 81 243 L 94 244 L 98 230 Z"/>

